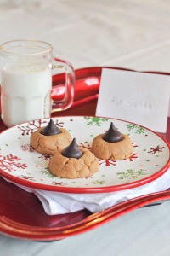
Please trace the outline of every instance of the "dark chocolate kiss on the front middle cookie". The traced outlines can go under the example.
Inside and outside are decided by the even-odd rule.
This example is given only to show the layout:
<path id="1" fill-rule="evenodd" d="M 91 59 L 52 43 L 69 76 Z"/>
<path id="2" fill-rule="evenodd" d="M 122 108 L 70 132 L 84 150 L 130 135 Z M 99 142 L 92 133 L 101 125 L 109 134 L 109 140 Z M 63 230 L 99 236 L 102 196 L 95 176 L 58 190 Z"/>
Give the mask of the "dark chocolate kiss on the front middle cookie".
<path id="1" fill-rule="evenodd" d="M 82 151 L 77 146 L 76 138 L 73 138 L 71 144 L 66 147 L 62 152 L 62 155 L 64 155 L 65 157 L 77 159 L 80 158 L 82 154 Z"/>

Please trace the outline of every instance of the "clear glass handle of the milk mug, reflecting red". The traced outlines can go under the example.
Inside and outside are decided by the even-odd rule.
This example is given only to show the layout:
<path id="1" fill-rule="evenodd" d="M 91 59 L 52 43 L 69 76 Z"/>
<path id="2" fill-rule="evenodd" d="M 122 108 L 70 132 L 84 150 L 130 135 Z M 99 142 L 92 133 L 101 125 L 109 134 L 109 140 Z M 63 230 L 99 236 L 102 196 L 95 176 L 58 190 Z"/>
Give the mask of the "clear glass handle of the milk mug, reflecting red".
<path id="1" fill-rule="evenodd" d="M 65 96 L 61 101 L 53 101 L 52 113 L 56 111 L 65 110 L 70 108 L 74 100 L 74 88 L 75 88 L 75 72 L 71 63 L 54 58 L 54 68 L 63 68 L 65 70 Z"/>

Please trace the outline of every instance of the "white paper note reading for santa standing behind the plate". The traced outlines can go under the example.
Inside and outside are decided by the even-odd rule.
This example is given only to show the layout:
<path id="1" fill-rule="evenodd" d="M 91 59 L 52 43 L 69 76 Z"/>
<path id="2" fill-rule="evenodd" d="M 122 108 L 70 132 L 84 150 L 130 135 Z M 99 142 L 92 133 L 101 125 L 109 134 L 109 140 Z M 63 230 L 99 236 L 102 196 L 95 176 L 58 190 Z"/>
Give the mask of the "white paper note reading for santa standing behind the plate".
<path id="1" fill-rule="evenodd" d="M 169 95 L 170 76 L 103 68 L 96 116 L 122 119 L 164 133 Z"/>

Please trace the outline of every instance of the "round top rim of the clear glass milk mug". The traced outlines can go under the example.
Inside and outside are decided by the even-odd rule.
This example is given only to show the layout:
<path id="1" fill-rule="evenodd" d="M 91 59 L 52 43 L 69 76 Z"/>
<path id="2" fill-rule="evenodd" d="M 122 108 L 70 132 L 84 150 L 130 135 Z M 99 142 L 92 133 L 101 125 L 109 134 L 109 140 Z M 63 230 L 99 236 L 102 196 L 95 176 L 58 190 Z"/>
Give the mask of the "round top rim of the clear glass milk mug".
<path id="1" fill-rule="evenodd" d="M 14 53 L 12 51 L 8 51 L 6 49 L 3 49 L 3 46 L 6 45 L 6 44 L 10 44 L 10 43 L 16 43 L 16 42 L 37 42 L 37 43 L 41 43 L 41 44 L 46 44 L 49 46 L 49 49 L 46 49 L 46 50 L 43 50 L 43 51 L 40 51 L 40 52 L 37 52 L 37 53 L 31 53 L 31 54 L 23 54 L 23 53 Z M 30 45 L 31 46 L 31 45 Z M 35 45 L 32 45 L 31 47 L 35 47 Z M 50 51 L 53 50 L 53 46 L 45 41 L 41 41 L 41 40 L 36 40 L 36 39 L 18 39 L 18 40 L 11 40 L 11 41 L 7 41 L 3 44 L 0 45 L 0 50 L 3 52 L 3 53 L 6 53 L 6 54 L 10 54 L 10 55 L 42 55 L 42 54 L 45 54 L 45 53 L 48 53 Z"/>

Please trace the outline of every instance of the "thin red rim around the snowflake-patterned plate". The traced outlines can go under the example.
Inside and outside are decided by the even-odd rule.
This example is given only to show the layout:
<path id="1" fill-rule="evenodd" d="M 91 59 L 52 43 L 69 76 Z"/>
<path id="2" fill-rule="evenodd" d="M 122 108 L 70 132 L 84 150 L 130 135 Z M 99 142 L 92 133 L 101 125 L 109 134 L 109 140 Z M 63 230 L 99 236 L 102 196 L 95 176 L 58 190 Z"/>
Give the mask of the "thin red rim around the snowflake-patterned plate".
<path id="1" fill-rule="evenodd" d="M 64 116 L 57 116 L 57 117 L 54 117 L 54 119 L 63 118 L 63 117 Z M 65 117 L 69 117 L 69 118 L 72 117 L 73 118 L 73 117 L 83 117 L 83 116 L 82 115 L 77 115 L 77 116 L 76 115 L 71 115 L 71 116 L 65 116 Z M 90 117 L 94 117 L 94 116 L 90 116 Z M 105 117 L 100 117 L 100 118 L 105 118 Z M 112 119 L 112 118 L 107 118 L 107 119 Z M 129 121 L 122 120 L 122 119 L 115 119 L 115 120 L 119 120 L 119 121 L 122 121 L 122 122 L 129 123 Z M 133 122 L 130 122 L 130 123 L 133 124 L 133 125 L 138 125 L 138 124 L 135 124 Z M 23 123 L 23 124 L 25 124 L 25 123 Z M 16 126 L 18 126 L 18 125 L 14 125 L 13 127 L 10 127 L 5 131 L 13 129 Z M 169 148 L 169 151 L 170 151 L 170 145 L 169 145 L 169 143 L 167 143 L 166 139 L 161 137 L 161 135 L 159 135 L 155 131 L 151 131 L 150 129 L 144 127 L 143 125 L 140 125 L 140 126 L 143 127 L 144 129 L 146 129 L 147 131 L 150 131 L 150 132 L 154 133 L 157 137 L 160 137 L 161 140 L 163 140 L 167 144 L 167 148 Z M 0 136 L 5 131 L 2 131 L 0 133 Z M 153 175 L 151 175 L 149 177 L 145 177 L 145 178 L 143 178 L 139 181 L 135 181 L 133 183 L 126 183 L 126 184 L 121 184 L 121 185 L 116 185 L 116 186 L 108 186 L 108 187 L 100 187 L 100 188 L 71 188 L 71 187 L 59 187 L 59 186 L 53 186 L 53 185 L 51 186 L 51 185 L 40 184 L 40 183 L 32 183 L 30 181 L 21 179 L 20 177 L 14 177 L 13 175 L 10 175 L 9 173 L 4 172 L 1 168 L 0 168 L 0 174 L 3 177 L 7 178 L 9 181 L 13 182 L 13 183 L 20 184 L 22 186 L 26 186 L 26 187 L 31 188 L 31 189 L 41 189 L 41 190 L 61 192 L 61 193 L 96 194 L 96 193 L 116 192 L 116 191 L 121 191 L 121 190 L 124 190 L 124 189 L 133 189 L 133 188 L 139 187 L 141 185 L 144 185 L 146 183 L 150 183 L 150 182 L 156 180 L 158 177 L 161 177 L 161 175 L 163 175 L 165 172 L 167 172 L 167 169 L 168 169 L 169 166 L 170 166 L 170 155 L 169 155 L 169 159 L 167 160 L 167 164 L 165 166 L 163 166 L 161 168 L 161 170 L 159 170 L 158 172 L 154 173 Z"/>

